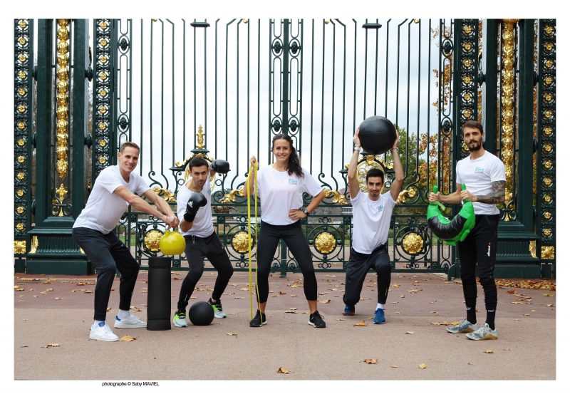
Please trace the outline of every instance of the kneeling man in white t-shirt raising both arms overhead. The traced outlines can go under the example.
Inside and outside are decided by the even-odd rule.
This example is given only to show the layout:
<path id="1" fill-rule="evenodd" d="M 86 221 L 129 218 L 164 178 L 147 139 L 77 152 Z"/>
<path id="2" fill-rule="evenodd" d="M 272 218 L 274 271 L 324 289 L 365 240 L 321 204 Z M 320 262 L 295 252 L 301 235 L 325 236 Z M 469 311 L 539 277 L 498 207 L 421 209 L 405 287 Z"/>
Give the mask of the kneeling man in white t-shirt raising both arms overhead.
<path id="1" fill-rule="evenodd" d="M 355 147 L 348 165 L 348 191 L 351 194 L 353 234 L 351 257 L 346 266 L 343 315 L 353 316 L 356 311 L 355 306 L 361 297 L 362 284 L 366 279 L 368 269 L 374 269 L 378 284 L 378 304 L 374 311 L 374 323 L 383 324 L 386 322 L 384 306 L 388 298 L 391 279 L 387 245 L 388 230 L 396 199 L 398 199 L 404 181 L 404 169 L 398 155 L 400 138 L 398 136 L 392 147 L 395 177 L 390 191 L 380 194 L 384 187 L 384 173 L 373 168 L 366 173 L 366 187 L 368 188 L 368 194 L 366 194 L 361 192 L 356 177 L 358 155 L 361 150 L 358 133 L 360 131 L 357 129 L 353 138 Z"/>

